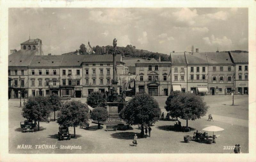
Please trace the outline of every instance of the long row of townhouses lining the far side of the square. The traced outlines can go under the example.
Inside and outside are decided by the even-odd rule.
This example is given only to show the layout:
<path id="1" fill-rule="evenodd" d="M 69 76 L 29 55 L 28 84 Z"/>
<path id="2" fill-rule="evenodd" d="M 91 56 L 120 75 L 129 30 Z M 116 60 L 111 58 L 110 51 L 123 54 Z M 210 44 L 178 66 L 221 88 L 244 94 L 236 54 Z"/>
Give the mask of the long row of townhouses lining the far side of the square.
<path id="1" fill-rule="evenodd" d="M 32 47 L 32 48 L 31 48 Z M 116 55 L 118 87 L 168 96 L 180 90 L 199 95 L 248 94 L 248 53 L 171 53 L 170 61 L 156 59 L 135 63 L 135 74 Z M 134 70 L 132 70 L 134 71 Z M 235 76 L 235 77 L 234 77 Z M 8 60 L 9 98 L 47 96 L 52 93 L 86 97 L 104 92 L 113 79 L 112 55 L 47 55 L 42 41 L 29 39 Z M 119 90 L 119 88 L 118 88 Z"/>

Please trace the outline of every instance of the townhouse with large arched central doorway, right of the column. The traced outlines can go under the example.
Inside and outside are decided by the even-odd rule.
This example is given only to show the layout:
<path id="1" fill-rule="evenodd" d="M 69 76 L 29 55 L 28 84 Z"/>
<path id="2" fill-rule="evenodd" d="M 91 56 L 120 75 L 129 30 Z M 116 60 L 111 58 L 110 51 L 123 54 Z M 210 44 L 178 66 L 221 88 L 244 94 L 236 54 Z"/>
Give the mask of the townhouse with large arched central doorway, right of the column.
<path id="1" fill-rule="evenodd" d="M 136 66 L 135 91 L 146 92 L 150 96 L 168 96 L 171 92 L 171 62 L 149 61 L 138 62 Z"/>

